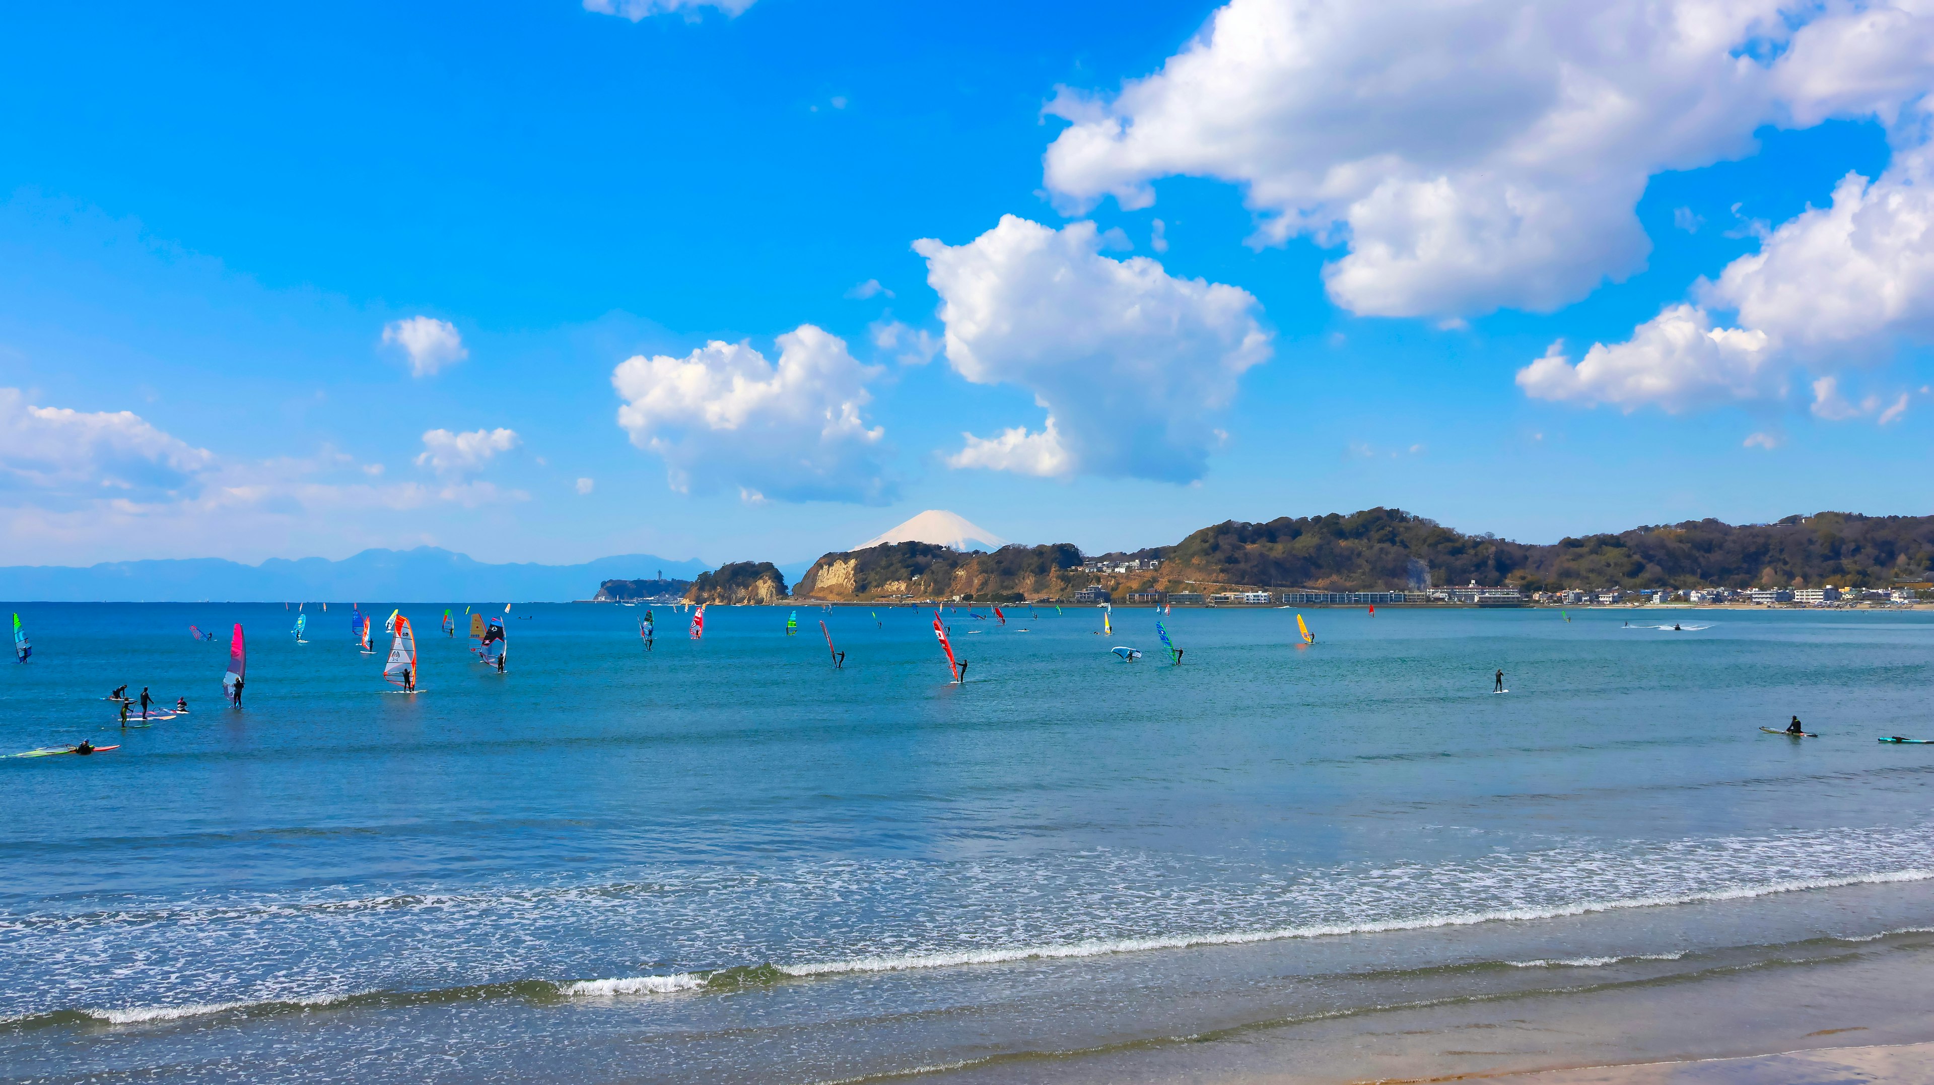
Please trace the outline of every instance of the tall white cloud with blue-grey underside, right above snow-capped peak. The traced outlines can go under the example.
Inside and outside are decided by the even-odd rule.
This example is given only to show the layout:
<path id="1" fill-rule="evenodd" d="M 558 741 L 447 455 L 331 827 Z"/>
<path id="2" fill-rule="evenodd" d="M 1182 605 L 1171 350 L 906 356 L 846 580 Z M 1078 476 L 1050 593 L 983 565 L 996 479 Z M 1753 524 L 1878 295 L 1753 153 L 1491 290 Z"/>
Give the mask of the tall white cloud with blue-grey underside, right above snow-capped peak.
<path id="1" fill-rule="evenodd" d="M 1046 410 L 1039 433 L 969 439 L 963 464 L 1168 482 L 1207 468 L 1216 414 L 1271 354 L 1259 304 L 1149 257 L 1100 255 L 1102 244 L 1093 222 L 1050 230 L 1013 215 L 965 246 L 913 244 L 953 369 L 1023 387 Z"/>

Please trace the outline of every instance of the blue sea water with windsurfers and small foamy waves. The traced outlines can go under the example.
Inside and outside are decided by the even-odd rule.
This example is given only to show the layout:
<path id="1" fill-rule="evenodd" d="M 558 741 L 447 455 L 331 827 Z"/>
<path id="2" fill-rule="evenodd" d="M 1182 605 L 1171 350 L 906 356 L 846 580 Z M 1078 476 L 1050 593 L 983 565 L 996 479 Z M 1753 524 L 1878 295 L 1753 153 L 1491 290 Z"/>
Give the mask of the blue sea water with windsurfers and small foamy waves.
<path id="1" fill-rule="evenodd" d="M 1934 924 L 1934 615 L 959 607 L 952 685 L 907 607 L 497 675 L 402 605 L 400 694 L 346 603 L 6 609 L 0 752 L 120 743 L 0 760 L 8 1081 L 849 1081 Z"/>

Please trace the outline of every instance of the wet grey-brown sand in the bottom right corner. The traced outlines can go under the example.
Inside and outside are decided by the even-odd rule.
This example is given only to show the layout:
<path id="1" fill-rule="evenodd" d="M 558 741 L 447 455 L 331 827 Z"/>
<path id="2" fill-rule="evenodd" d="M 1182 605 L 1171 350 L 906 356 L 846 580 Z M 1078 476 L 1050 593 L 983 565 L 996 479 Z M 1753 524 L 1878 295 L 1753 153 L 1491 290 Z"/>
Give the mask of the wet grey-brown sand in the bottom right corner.
<path id="1" fill-rule="evenodd" d="M 1934 1085 L 1930 1002 L 1934 934 L 1897 934 L 1804 963 L 1352 1012 L 923 1077 L 948 1085 Z"/>

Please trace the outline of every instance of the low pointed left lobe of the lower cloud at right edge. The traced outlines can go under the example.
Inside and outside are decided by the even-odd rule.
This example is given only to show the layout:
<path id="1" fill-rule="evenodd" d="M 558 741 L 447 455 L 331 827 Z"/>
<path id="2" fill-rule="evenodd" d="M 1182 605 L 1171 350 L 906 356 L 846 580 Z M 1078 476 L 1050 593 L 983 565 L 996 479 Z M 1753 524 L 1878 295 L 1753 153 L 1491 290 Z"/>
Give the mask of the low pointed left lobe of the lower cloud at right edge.
<path id="1" fill-rule="evenodd" d="M 1766 366 L 1768 354 L 1766 333 L 1714 327 L 1700 308 L 1669 306 L 1638 325 L 1628 342 L 1594 342 L 1576 366 L 1565 344 L 1553 342 L 1543 358 L 1518 369 L 1518 387 L 1532 398 L 1626 412 L 1654 404 L 1677 414 L 1768 395 L 1779 379 Z"/>

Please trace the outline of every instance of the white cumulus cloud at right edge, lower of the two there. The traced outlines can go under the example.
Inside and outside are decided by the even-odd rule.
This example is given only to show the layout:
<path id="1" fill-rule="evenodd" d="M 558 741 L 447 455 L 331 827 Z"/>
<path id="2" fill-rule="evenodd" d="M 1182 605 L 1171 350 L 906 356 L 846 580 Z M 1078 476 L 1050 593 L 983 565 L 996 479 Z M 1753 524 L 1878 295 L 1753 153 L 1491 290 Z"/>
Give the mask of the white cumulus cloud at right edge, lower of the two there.
<path id="1" fill-rule="evenodd" d="M 1872 366 L 1903 337 L 1926 340 L 1934 335 L 1934 190 L 1926 166 L 1928 149 L 1911 147 L 1880 180 L 1847 174 L 1831 205 L 1764 230 L 1760 251 L 1729 263 L 1717 280 L 1700 280 L 1696 306 L 1667 306 L 1630 342 L 1594 346 L 1594 354 L 1625 362 L 1615 391 L 1584 364 L 1570 373 L 1553 364 L 1557 346 L 1520 371 L 1518 385 L 1539 398 L 1683 410 L 1688 402 L 1681 393 L 1696 373 L 1715 377 L 1727 398 L 1777 398 L 1785 375 L 1801 367 Z M 1735 311 L 1739 327 L 1715 329 L 1708 311 Z M 1710 344 L 1686 331 L 1679 337 L 1685 350 L 1650 348 L 1669 327 L 1700 331 Z M 1727 352 L 1727 342 L 1750 350 Z M 1754 379 L 1741 379 L 1746 358 Z M 1907 412 L 1905 395 L 1847 400 L 1833 373 L 1814 379 L 1812 391 L 1812 414 L 1830 422 L 1872 418 L 1886 425 Z"/>

